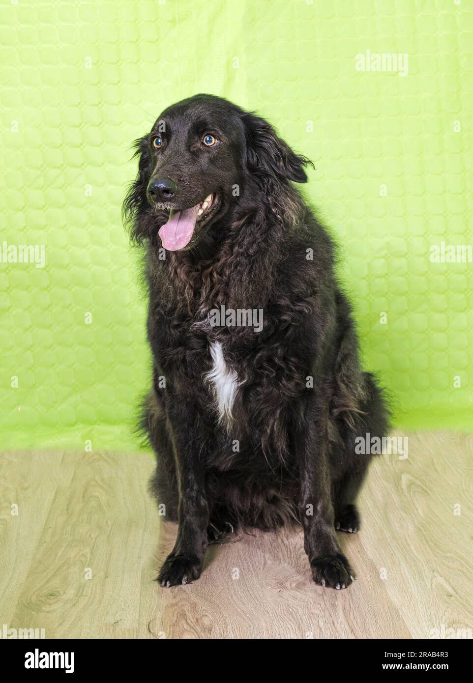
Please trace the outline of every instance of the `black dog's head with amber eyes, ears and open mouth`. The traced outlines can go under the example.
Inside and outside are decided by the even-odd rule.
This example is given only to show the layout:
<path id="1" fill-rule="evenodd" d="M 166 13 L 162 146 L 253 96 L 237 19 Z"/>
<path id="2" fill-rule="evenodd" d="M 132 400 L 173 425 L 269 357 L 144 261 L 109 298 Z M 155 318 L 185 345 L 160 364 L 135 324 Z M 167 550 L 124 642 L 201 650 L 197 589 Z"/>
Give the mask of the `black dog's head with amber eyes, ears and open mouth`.
<path id="1" fill-rule="evenodd" d="M 124 202 L 125 216 L 145 219 L 148 235 L 135 227 L 138 239 L 149 236 L 152 215 L 160 216 L 154 229 L 170 251 L 195 245 L 248 186 L 267 195 L 278 184 L 307 180 L 306 157 L 265 120 L 213 95 L 168 107 L 135 145 L 139 173 Z"/>

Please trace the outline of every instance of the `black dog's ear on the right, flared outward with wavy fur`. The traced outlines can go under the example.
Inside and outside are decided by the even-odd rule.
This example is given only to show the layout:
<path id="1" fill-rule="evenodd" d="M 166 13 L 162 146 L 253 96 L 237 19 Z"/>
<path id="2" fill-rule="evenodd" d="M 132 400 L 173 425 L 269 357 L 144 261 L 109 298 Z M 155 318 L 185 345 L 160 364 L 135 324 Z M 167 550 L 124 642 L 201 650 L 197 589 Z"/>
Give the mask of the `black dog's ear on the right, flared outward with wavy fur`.
<path id="1" fill-rule="evenodd" d="M 275 176 L 278 181 L 307 182 L 304 167 L 314 167 L 310 159 L 293 152 L 274 128 L 254 113 L 245 112 L 241 119 L 245 126 L 245 161 L 250 173 Z"/>

